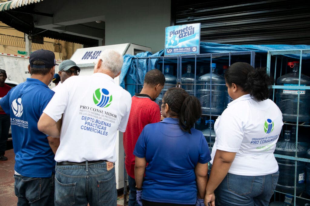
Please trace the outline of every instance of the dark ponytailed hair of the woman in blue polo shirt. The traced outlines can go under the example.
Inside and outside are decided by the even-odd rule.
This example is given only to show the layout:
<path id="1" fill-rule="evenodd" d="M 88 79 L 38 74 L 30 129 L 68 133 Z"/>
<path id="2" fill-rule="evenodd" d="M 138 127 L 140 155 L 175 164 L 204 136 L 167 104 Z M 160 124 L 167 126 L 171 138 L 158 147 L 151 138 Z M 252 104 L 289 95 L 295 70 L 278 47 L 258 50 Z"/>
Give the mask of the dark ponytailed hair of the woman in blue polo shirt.
<path id="1" fill-rule="evenodd" d="M 181 129 L 191 134 L 191 128 L 201 116 L 200 101 L 179 87 L 167 90 L 163 101 L 169 105 L 170 115 L 179 117 Z"/>

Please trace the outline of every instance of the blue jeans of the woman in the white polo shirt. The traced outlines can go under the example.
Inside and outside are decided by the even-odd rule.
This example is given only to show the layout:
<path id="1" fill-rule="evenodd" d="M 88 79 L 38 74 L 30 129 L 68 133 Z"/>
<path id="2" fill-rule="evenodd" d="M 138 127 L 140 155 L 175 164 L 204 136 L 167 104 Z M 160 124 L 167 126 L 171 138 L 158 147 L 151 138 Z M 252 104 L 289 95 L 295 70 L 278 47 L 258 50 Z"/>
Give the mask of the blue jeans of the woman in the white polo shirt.
<path id="1" fill-rule="evenodd" d="M 262 176 L 228 173 L 215 190 L 216 205 L 268 206 L 276 188 L 279 171 Z"/>

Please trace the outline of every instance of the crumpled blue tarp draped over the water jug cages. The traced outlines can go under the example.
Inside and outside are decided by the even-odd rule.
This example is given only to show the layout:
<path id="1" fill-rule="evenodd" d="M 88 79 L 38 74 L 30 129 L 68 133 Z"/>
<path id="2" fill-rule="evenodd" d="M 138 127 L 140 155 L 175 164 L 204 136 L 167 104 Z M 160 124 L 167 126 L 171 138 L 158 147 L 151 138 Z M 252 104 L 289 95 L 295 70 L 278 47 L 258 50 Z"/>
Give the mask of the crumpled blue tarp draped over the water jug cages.
<path id="1" fill-rule="evenodd" d="M 242 52 L 242 51 L 254 51 L 256 53 L 267 53 L 272 50 L 299 50 L 299 49 L 310 49 L 309 45 L 288 45 L 288 44 L 263 44 L 263 45 L 232 45 L 232 44 L 217 44 L 217 43 L 208 43 L 200 42 L 200 53 L 227 53 L 227 52 Z M 144 75 L 148 70 L 155 69 L 158 58 L 145 58 L 139 59 L 138 68 L 137 61 L 134 61 L 135 57 L 161 57 L 163 56 L 164 50 L 161 50 L 155 54 L 150 52 L 138 53 L 137 55 L 126 54 L 124 56 L 124 65 L 122 67 L 122 73 L 120 75 L 121 86 L 125 88 L 124 79 L 127 75 L 130 76 L 131 83 L 143 84 Z M 287 54 L 287 57 L 292 57 L 299 59 L 299 54 Z M 310 54 L 303 54 L 303 59 L 310 59 Z M 149 62 L 150 61 L 150 62 Z M 148 64 L 149 67 L 148 67 Z M 138 73 L 137 73 L 138 69 Z M 138 74 L 138 77 L 137 75 Z M 138 81 L 137 81 L 138 80 Z"/>

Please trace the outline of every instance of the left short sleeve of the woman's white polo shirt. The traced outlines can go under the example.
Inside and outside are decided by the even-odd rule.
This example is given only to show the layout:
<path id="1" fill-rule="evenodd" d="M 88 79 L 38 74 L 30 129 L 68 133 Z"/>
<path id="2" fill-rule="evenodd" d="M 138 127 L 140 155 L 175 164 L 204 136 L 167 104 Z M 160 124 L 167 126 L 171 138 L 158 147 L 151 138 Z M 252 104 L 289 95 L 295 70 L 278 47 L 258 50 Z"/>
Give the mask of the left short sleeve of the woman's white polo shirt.
<path id="1" fill-rule="evenodd" d="M 215 121 L 216 149 L 238 152 L 244 132 L 242 120 L 232 112 L 224 111 Z"/>

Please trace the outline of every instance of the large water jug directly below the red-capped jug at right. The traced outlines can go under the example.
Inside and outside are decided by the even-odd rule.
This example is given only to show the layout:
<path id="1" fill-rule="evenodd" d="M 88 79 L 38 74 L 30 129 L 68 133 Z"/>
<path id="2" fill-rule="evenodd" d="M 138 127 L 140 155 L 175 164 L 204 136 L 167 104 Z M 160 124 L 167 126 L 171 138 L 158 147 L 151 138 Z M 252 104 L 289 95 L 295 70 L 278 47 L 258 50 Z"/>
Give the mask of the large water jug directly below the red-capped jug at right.
<path id="1" fill-rule="evenodd" d="M 284 131 L 284 140 L 278 141 L 275 154 L 305 157 L 307 148 L 303 145 L 297 145 L 290 141 L 290 130 Z M 276 158 L 279 166 L 279 179 L 276 190 L 289 194 L 294 194 L 294 184 L 296 182 L 296 194 L 299 195 L 305 190 L 305 163 L 296 162 L 296 177 L 295 177 L 295 161 L 289 159 Z"/>

